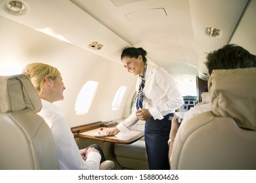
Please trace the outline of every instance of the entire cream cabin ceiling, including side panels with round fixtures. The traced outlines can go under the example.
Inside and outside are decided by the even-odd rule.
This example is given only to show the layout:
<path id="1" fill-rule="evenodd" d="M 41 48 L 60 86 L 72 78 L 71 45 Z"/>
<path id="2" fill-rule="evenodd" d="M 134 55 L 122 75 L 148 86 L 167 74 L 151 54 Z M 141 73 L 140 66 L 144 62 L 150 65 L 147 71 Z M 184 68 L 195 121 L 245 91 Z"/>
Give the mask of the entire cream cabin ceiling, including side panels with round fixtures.
<path id="1" fill-rule="evenodd" d="M 123 48 L 142 47 L 151 63 L 175 76 L 207 79 L 205 56 L 224 44 L 236 43 L 256 52 L 251 43 L 255 32 L 250 29 L 255 27 L 253 0 L 24 0 L 26 9 L 18 15 L 7 9 L 8 2 L 0 2 L 4 18 L 47 30 L 117 63 Z M 207 35 L 207 27 L 219 29 L 219 36 Z M 95 41 L 102 44 L 101 50 L 89 46 Z"/>

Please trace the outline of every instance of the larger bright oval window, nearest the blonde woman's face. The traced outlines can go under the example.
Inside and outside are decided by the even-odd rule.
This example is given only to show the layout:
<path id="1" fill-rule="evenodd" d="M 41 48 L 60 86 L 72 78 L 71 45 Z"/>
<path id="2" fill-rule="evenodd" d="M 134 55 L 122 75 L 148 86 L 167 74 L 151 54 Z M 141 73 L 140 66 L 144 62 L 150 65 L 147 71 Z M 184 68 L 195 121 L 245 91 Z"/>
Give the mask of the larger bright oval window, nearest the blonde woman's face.
<path id="1" fill-rule="evenodd" d="M 98 82 L 88 81 L 80 90 L 75 101 L 75 114 L 87 114 L 95 97 Z"/>

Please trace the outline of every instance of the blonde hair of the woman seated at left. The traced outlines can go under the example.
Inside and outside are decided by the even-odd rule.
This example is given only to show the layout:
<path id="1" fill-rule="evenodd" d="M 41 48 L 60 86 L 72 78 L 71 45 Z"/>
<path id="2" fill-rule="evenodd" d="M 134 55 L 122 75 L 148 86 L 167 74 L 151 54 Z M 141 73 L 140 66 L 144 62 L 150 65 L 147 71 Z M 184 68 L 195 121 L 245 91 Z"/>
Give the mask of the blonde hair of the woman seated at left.
<path id="1" fill-rule="evenodd" d="M 38 93 L 40 93 L 43 88 L 45 77 L 49 76 L 51 79 L 55 80 L 57 76 L 60 76 L 58 69 L 45 63 L 30 63 L 23 69 L 22 74 L 30 78 Z"/>

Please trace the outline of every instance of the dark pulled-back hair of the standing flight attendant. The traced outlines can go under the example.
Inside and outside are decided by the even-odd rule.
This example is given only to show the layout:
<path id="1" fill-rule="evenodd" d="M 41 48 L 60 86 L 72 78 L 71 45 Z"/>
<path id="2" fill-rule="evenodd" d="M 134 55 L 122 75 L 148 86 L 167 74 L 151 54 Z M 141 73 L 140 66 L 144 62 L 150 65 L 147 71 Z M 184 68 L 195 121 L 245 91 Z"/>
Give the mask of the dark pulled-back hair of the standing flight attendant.
<path id="1" fill-rule="evenodd" d="M 129 58 L 139 58 L 139 56 L 142 56 L 142 60 L 144 63 L 146 63 L 146 51 L 143 48 L 125 48 L 121 54 L 121 59 L 124 57 Z"/>

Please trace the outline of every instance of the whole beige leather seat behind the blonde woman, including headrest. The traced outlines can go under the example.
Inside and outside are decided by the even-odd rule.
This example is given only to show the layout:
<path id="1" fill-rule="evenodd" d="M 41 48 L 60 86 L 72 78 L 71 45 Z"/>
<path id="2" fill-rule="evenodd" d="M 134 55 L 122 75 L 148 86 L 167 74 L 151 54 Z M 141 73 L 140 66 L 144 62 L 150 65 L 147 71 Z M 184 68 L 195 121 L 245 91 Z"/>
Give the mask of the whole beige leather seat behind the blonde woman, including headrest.
<path id="1" fill-rule="evenodd" d="M 0 169 L 60 169 L 41 100 L 24 75 L 0 76 Z"/>

